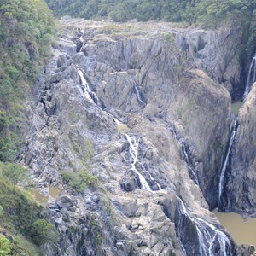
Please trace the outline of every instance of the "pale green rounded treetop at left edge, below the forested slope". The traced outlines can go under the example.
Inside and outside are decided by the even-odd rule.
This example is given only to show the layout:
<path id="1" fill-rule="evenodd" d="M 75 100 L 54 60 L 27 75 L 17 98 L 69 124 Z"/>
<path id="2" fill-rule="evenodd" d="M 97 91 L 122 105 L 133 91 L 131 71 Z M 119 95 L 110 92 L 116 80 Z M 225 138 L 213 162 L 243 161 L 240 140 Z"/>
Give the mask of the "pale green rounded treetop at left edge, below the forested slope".
<path id="1" fill-rule="evenodd" d="M 28 169 L 18 164 L 4 163 L 3 177 L 9 179 L 9 182 L 15 186 L 17 183 L 26 182 Z"/>

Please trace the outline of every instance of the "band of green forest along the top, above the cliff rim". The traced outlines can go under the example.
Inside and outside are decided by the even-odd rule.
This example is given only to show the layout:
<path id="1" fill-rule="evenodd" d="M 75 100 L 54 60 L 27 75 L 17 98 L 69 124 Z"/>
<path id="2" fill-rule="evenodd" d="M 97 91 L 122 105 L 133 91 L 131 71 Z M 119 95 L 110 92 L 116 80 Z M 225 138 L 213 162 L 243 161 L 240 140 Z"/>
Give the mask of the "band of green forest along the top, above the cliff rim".
<path id="1" fill-rule="evenodd" d="M 118 22 L 165 20 L 213 29 L 232 23 L 243 29 L 237 53 L 241 56 L 241 66 L 255 50 L 256 0 L 46 0 L 46 3 L 58 17 L 109 18 Z"/>

